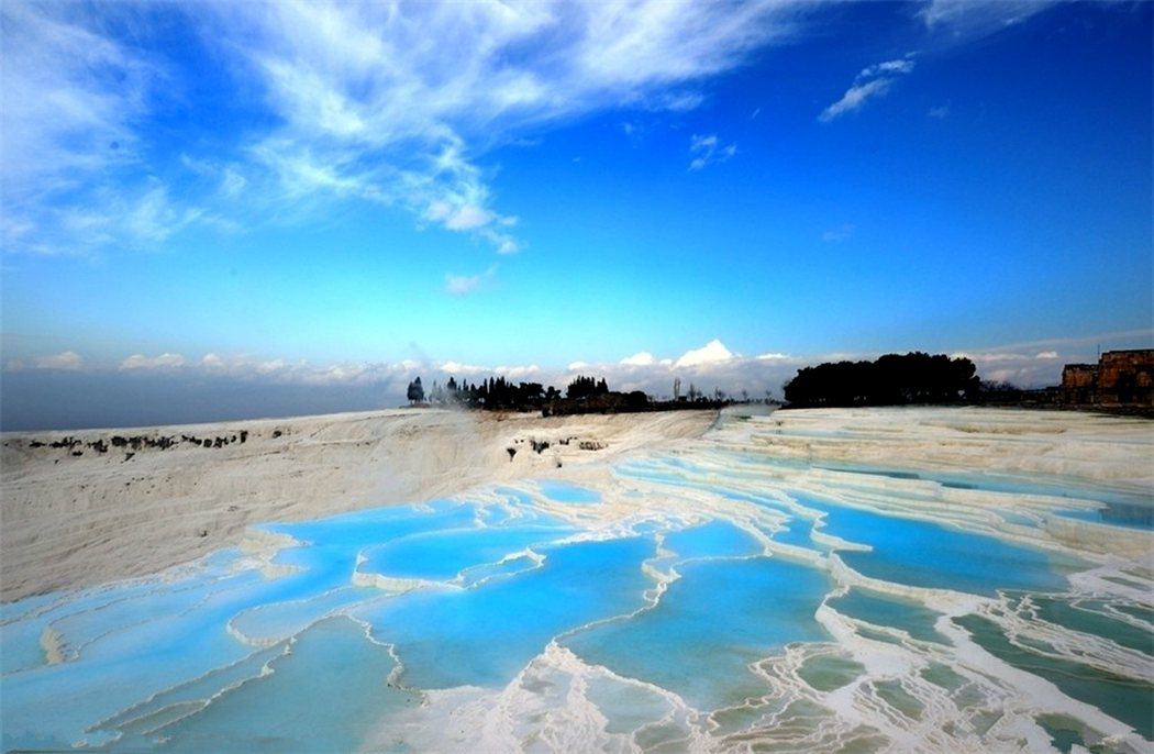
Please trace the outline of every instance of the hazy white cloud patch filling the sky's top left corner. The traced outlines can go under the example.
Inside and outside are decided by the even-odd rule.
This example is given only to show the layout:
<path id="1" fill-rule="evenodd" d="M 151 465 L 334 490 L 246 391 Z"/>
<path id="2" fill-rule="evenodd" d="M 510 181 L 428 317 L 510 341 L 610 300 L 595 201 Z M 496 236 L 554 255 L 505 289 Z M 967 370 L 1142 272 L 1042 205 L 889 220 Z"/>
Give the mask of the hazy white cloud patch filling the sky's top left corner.
<path id="1" fill-rule="evenodd" d="M 160 62 L 77 3 L 3 3 L 0 45 L 6 249 L 84 253 L 163 240 L 196 219 L 141 169 L 135 122 L 166 82 Z"/>

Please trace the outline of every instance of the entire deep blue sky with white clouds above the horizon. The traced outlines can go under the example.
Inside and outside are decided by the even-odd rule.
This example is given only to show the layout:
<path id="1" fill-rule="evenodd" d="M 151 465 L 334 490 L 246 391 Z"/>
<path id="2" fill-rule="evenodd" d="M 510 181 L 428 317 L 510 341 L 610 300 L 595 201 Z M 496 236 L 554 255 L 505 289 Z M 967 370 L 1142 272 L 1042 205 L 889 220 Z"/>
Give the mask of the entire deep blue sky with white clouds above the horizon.
<path id="1" fill-rule="evenodd" d="M 1052 382 L 1154 339 L 1152 7 L 6 2 L 6 381 Z"/>

